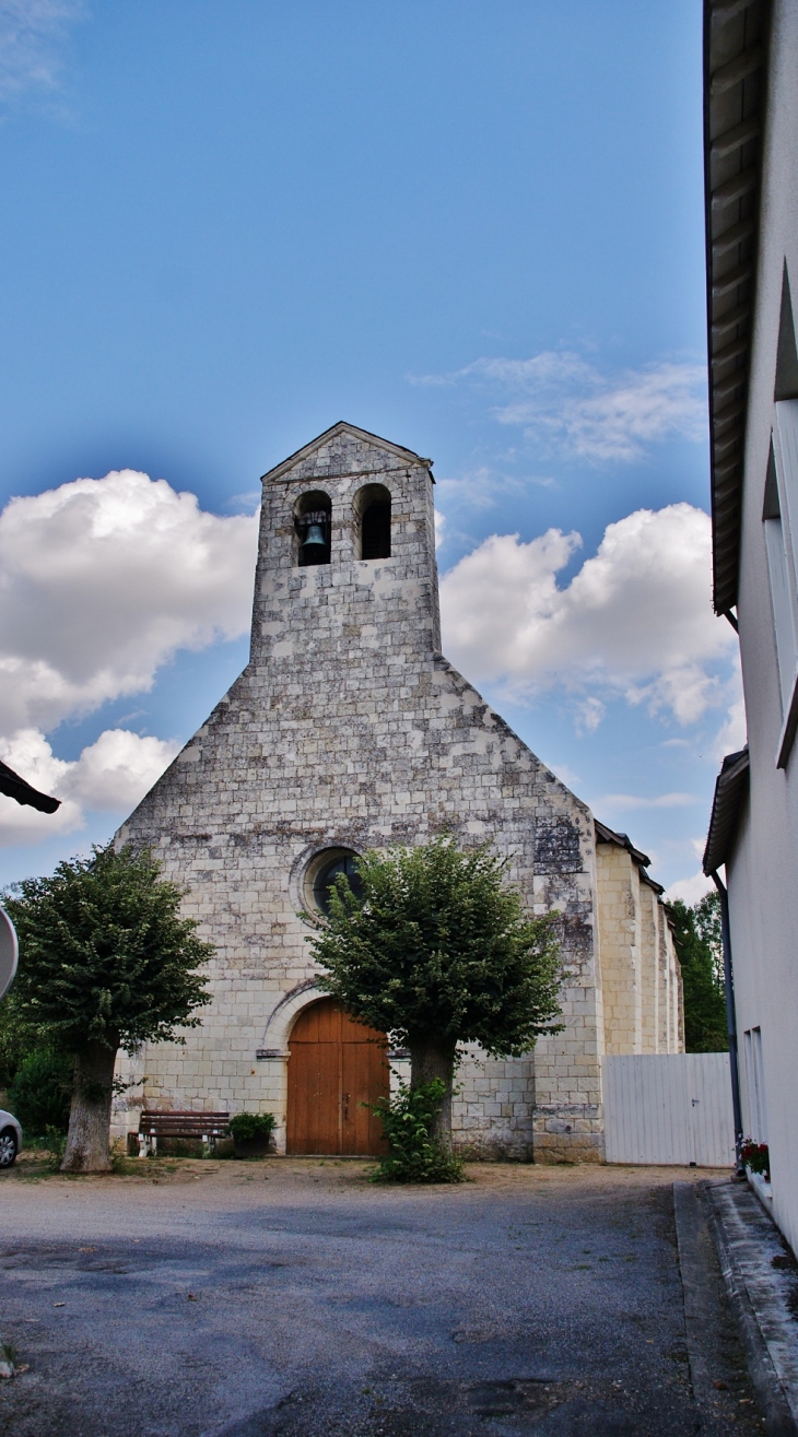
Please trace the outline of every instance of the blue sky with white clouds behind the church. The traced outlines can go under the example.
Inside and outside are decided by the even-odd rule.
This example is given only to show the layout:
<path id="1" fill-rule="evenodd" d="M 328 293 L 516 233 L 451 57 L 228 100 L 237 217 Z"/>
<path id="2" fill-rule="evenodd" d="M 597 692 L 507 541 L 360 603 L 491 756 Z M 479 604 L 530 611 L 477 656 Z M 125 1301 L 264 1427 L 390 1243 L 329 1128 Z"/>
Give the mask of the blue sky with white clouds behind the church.
<path id="1" fill-rule="evenodd" d="M 436 461 L 447 654 L 692 878 L 739 739 L 699 0 L 0 0 L 0 45 L 1 754 L 65 795 L 3 808 L 0 878 L 104 839 L 243 667 L 257 477 L 339 418 Z M 155 486 L 63 487 L 112 471 L 168 486 L 168 563 Z M 224 592 L 165 572 L 206 542 Z"/>

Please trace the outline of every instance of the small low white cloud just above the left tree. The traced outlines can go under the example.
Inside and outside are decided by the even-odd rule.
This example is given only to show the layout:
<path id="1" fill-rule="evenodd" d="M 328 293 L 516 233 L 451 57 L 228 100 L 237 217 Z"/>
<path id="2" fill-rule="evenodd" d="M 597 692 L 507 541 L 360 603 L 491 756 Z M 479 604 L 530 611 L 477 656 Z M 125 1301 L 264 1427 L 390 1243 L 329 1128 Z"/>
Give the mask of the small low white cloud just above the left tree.
<path id="1" fill-rule="evenodd" d="M 181 744 L 106 729 L 79 759 L 56 759 L 45 734 L 22 729 L 0 746 L 3 760 L 33 787 L 62 800 L 56 813 L 37 813 L 0 795 L 0 846 L 36 844 L 83 826 L 85 809 L 129 812 L 174 759 Z"/>

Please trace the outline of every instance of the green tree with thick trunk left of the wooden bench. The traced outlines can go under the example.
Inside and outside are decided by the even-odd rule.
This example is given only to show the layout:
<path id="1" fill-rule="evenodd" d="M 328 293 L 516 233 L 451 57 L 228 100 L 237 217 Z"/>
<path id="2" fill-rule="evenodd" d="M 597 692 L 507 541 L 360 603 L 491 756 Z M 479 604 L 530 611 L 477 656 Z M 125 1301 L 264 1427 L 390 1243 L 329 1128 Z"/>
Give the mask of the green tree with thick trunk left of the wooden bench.
<path id="1" fill-rule="evenodd" d="M 114 1065 L 119 1048 L 184 1042 L 210 1002 L 197 971 L 213 946 L 180 917 L 184 891 L 162 882 L 147 852 L 95 848 L 92 858 L 27 878 L 6 897 L 20 940 L 20 1020 L 73 1056 L 62 1170 L 104 1173 L 109 1161 Z"/>

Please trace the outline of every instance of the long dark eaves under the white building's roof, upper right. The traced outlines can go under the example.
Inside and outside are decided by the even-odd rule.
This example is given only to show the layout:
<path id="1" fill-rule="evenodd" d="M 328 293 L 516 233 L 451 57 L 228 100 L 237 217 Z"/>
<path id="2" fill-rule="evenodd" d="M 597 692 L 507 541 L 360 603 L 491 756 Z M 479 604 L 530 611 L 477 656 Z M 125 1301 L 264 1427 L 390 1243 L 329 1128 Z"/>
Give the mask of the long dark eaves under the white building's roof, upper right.
<path id="1" fill-rule="evenodd" d="M 738 602 L 768 0 L 705 0 L 705 205 L 716 614 Z"/>

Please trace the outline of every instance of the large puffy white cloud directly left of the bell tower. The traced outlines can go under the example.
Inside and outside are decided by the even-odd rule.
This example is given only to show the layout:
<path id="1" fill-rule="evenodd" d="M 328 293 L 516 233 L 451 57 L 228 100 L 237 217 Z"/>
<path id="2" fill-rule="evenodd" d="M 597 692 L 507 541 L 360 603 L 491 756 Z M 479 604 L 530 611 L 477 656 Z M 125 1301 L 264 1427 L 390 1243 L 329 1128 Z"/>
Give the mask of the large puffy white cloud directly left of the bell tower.
<path id="1" fill-rule="evenodd" d="M 0 733 L 147 690 L 178 648 L 250 622 L 257 516 L 204 513 L 132 470 L 0 514 Z"/>

